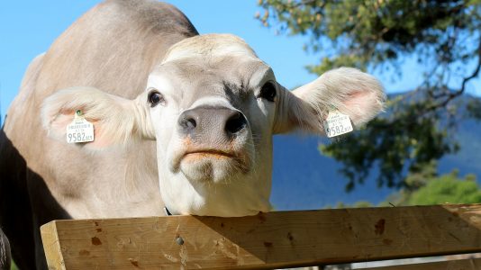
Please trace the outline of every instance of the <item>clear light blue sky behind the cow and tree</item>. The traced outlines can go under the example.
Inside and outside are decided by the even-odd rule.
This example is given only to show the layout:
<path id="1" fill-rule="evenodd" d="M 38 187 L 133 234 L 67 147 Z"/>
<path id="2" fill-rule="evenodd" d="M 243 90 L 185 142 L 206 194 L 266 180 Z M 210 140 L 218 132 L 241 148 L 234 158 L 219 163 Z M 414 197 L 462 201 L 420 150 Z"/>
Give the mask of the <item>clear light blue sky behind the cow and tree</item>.
<path id="1" fill-rule="evenodd" d="M 36 55 L 47 50 L 59 34 L 89 8 L 99 3 L 82 1 L 4 1 L 0 4 L 0 105 L 5 112 L 14 99 L 25 68 Z M 246 40 L 259 57 L 273 67 L 277 80 L 287 88 L 315 78 L 304 66 L 319 61 L 318 55 L 304 52 L 304 37 L 276 35 L 261 27 L 254 14 L 261 11 L 257 1 L 167 1 L 176 5 L 201 33 L 229 32 Z M 28 7 L 28 8 L 25 8 Z M 421 72 L 414 61 L 405 60 L 402 79 L 393 82 L 388 74 L 377 75 L 388 93 L 418 85 Z M 475 87 L 476 85 L 476 87 Z M 479 79 L 469 87 L 479 90 Z M 479 92 L 481 93 L 481 91 Z"/>

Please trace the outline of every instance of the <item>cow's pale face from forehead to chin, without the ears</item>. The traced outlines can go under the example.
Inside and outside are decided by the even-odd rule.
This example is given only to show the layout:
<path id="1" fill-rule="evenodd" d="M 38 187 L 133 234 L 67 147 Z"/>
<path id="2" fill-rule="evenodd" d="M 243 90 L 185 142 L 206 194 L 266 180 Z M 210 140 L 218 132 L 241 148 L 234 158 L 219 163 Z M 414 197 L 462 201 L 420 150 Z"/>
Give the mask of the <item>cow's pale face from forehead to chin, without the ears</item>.
<path id="1" fill-rule="evenodd" d="M 233 50 L 241 55 L 225 53 Z M 271 68 L 231 36 L 200 36 L 169 51 L 150 74 L 145 104 L 170 211 L 270 210 L 277 92 Z"/>

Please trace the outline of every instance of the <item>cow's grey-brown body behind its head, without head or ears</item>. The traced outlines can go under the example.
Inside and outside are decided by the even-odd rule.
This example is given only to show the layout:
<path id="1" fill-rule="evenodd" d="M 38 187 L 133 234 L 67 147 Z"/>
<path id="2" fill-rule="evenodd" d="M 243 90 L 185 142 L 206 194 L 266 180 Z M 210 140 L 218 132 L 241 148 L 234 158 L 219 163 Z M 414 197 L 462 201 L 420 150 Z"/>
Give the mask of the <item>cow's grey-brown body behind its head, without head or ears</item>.
<path id="1" fill-rule="evenodd" d="M 154 142 L 92 154 L 50 139 L 41 127 L 41 103 L 59 89 L 79 85 L 132 99 L 144 90 L 166 50 L 195 34 L 184 14 L 169 4 L 107 1 L 32 61 L 0 141 L 0 197 L 7 202 L 0 204 L 0 221 L 14 257 L 19 256 L 15 248 L 28 249 L 32 238 L 40 239 L 38 230 L 33 236 L 28 232 L 32 222 L 38 227 L 60 218 L 159 213 Z M 9 215 L 24 224 L 9 222 Z M 16 233 L 22 230 L 23 236 Z M 39 248 L 36 253 L 41 256 Z"/>

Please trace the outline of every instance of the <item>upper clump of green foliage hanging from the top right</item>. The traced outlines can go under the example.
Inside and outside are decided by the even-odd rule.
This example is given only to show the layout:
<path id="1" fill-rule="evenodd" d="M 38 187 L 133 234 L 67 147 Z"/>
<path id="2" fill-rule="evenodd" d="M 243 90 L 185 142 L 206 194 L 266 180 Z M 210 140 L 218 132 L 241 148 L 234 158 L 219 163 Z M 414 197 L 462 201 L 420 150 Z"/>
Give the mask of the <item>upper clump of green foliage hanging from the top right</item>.
<path id="1" fill-rule="evenodd" d="M 267 26 L 277 24 L 278 31 L 311 36 L 313 51 L 330 50 L 312 68 L 323 73 L 340 66 L 366 68 L 424 49 L 440 51 L 440 61 L 467 59 L 472 51 L 466 44 L 452 50 L 452 42 L 458 40 L 447 33 L 478 31 L 478 4 L 468 0 L 261 0 L 266 13 L 259 20 Z"/>

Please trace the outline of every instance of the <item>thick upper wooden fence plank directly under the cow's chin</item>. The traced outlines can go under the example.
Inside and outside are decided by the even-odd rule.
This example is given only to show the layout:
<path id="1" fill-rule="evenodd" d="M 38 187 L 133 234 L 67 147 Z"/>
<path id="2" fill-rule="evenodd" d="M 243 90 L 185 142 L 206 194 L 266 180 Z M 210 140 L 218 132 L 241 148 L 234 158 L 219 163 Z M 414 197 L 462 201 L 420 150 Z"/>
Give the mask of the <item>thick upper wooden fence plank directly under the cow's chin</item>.
<path id="1" fill-rule="evenodd" d="M 276 268 L 481 251 L 481 204 L 57 220 L 42 234 L 52 223 L 61 257 L 47 252 L 48 261 L 67 269 Z"/>

